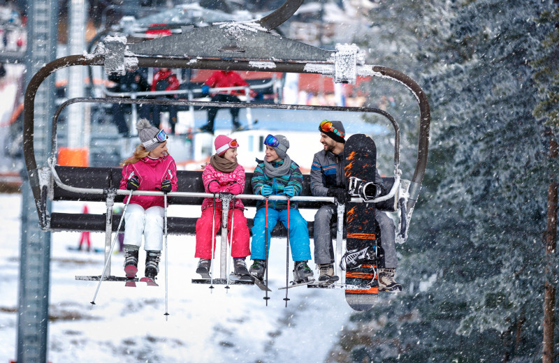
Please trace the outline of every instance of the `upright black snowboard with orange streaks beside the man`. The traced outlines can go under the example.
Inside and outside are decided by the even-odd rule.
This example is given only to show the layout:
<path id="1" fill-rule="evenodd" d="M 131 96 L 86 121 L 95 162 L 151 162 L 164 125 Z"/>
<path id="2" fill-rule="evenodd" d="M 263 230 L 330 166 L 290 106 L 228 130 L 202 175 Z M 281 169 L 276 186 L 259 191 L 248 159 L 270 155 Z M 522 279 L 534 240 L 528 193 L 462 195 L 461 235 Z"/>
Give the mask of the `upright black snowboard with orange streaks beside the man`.
<path id="1" fill-rule="evenodd" d="M 344 146 L 346 181 L 350 177 L 375 180 L 377 173 L 377 147 L 367 135 L 351 135 Z M 349 182 L 347 183 L 349 193 Z M 378 223 L 375 205 L 347 202 L 345 205 L 347 252 L 342 258 L 345 265 L 345 298 L 351 309 L 367 311 L 377 302 L 379 283 L 376 274 Z"/>

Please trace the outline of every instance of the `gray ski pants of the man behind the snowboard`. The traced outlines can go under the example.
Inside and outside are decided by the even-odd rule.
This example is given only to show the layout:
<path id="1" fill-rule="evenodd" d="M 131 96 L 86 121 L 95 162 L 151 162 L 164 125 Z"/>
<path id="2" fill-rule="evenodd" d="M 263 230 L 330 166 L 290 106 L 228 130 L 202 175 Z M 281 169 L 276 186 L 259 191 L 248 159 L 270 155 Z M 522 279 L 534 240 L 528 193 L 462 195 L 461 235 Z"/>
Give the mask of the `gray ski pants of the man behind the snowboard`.
<path id="1" fill-rule="evenodd" d="M 334 249 L 331 235 L 331 226 L 335 227 L 337 221 L 335 205 L 323 205 L 314 214 L 314 262 L 317 264 L 333 263 Z M 395 236 L 396 228 L 392 218 L 386 213 L 377 211 L 377 222 L 380 227 L 381 244 L 384 249 L 384 268 L 398 267 L 396 257 Z M 335 228 L 334 228 L 335 231 Z"/>

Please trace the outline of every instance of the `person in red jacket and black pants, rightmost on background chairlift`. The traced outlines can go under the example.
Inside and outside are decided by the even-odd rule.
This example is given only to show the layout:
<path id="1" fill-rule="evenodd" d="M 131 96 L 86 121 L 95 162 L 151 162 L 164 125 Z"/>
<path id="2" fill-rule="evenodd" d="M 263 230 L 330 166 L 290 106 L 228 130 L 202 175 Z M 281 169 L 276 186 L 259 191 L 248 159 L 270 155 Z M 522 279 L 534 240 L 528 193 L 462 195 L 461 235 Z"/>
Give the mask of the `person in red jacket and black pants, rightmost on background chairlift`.
<path id="1" fill-rule="evenodd" d="M 247 87 L 249 84 L 243 80 L 239 73 L 234 71 L 215 71 L 210 75 L 208 80 L 204 82 L 202 86 L 202 95 L 208 96 L 210 94 L 211 88 L 222 88 L 222 87 Z M 242 91 L 244 92 L 244 91 Z M 212 102 L 240 102 L 237 95 L 240 94 L 239 91 L 217 91 L 217 93 L 212 94 Z M 250 96 L 259 98 L 260 94 L 255 94 L 251 91 Z M 208 108 L 208 123 L 202 126 L 200 129 L 203 132 L 214 133 L 214 121 L 217 115 L 218 108 Z M 239 122 L 239 109 L 230 108 L 233 130 L 238 130 L 241 128 Z"/>

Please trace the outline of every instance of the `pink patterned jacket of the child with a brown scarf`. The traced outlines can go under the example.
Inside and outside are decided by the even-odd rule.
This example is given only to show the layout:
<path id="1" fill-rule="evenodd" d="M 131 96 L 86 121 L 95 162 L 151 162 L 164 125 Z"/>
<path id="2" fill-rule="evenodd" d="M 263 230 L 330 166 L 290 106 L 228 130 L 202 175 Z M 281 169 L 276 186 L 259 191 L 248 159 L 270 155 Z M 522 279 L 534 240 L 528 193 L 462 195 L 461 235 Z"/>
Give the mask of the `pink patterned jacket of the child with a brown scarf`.
<path id="1" fill-rule="evenodd" d="M 233 193 L 235 195 L 245 191 L 245 168 L 237 165 L 232 172 L 219 172 L 212 164 L 205 165 L 202 172 L 202 182 L 206 193 Z M 205 198 L 202 202 L 202 210 L 212 207 L 213 198 Z M 216 198 L 215 207 L 222 209 L 222 200 Z M 231 205 L 229 205 L 231 208 Z M 242 200 L 235 199 L 235 208 L 245 209 Z"/>

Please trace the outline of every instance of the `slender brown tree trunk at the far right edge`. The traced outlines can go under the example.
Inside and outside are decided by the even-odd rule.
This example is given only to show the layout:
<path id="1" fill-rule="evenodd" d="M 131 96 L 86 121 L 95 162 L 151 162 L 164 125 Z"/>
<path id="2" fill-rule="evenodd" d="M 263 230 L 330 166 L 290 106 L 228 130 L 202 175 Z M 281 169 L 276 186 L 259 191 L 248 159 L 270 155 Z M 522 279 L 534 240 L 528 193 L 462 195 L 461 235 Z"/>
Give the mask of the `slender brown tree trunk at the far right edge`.
<path id="1" fill-rule="evenodd" d="M 551 133 L 550 133 L 551 134 Z M 549 140 L 549 158 L 557 158 L 559 145 Z M 553 178 L 555 175 L 552 176 Z M 557 235 L 557 203 L 558 184 L 553 181 L 549 184 L 547 191 L 547 229 L 546 229 L 546 269 L 545 269 L 545 291 L 544 291 L 544 341 L 542 351 L 542 362 L 553 363 L 553 329 L 555 328 L 555 277 L 553 276 L 553 260 L 556 249 Z"/>

